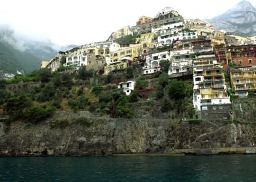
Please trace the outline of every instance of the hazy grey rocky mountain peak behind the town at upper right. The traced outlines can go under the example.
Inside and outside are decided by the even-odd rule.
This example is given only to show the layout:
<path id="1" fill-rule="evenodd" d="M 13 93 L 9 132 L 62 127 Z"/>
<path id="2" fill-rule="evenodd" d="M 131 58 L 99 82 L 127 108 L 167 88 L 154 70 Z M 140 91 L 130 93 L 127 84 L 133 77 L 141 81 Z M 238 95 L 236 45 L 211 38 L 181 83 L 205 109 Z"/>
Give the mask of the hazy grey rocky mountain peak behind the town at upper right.
<path id="1" fill-rule="evenodd" d="M 217 30 L 236 32 L 241 36 L 256 35 L 256 8 L 249 1 L 241 1 L 230 10 L 206 21 Z"/>

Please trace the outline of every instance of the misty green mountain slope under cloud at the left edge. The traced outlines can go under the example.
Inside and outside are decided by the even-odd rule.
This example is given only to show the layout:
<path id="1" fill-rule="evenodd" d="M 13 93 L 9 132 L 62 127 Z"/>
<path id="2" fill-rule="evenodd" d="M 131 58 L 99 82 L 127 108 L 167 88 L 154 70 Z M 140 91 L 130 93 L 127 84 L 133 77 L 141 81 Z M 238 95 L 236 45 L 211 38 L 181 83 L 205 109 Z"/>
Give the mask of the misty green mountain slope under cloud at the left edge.
<path id="1" fill-rule="evenodd" d="M 40 68 L 41 60 L 50 60 L 58 51 L 67 51 L 77 45 L 57 45 L 50 40 L 29 38 L 17 34 L 9 25 L 0 25 L 0 70 L 29 73 Z"/>

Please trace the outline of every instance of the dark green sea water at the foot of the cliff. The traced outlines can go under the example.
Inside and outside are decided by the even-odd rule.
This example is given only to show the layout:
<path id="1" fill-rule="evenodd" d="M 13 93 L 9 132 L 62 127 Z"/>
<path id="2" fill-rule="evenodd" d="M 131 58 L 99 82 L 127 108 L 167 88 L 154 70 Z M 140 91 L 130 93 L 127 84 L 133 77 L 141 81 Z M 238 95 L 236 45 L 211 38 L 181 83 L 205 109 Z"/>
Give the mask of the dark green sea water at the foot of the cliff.
<path id="1" fill-rule="evenodd" d="M 256 155 L 0 157 L 0 181 L 256 181 Z"/>

